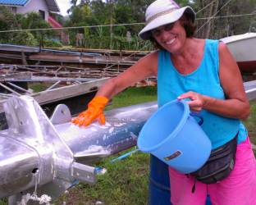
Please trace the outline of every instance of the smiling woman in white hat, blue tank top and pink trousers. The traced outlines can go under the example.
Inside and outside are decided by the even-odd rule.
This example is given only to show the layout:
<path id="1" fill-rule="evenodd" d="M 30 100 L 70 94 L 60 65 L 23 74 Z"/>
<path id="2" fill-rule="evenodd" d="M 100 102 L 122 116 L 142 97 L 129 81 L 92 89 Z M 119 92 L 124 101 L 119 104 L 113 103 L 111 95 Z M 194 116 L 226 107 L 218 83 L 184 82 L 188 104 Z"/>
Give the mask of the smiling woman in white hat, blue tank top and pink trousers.
<path id="1" fill-rule="evenodd" d="M 256 204 L 255 159 L 245 126 L 240 120 L 249 116 L 240 71 L 224 43 L 195 39 L 195 13 L 171 0 L 157 0 L 146 11 L 146 25 L 139 32 L 160 50 L 150 53 L 128 70 L 108 80 L 89 103 L 88 110 L 73 121 L 89 125 L 98 118 L 103 124 L 103 108 L 110 98 L 131 84 L 158 76 L 158 106 L 189 98 L 190 110 L 203 116 L 203 130 L 213 148 L 219 148 L 237 135 L 235 168 L 216 184 L 196 183 L 169 167 L 171 203 L 204 204 L 210 195 L 213 204 Z"/>

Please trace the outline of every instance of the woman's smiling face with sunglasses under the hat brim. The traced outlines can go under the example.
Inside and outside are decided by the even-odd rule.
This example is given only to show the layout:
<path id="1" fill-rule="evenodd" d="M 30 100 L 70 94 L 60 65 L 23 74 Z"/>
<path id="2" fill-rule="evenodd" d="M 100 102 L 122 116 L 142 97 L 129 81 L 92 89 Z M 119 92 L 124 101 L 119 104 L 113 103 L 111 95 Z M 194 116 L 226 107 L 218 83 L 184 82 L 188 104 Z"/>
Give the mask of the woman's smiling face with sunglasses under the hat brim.
<path id="1" fill-rule="evenodd" d="M 153 38 L 168 52 L 179 53 L 185 45 L 186 33 L 181 21 L 162 25 L 151 31 Z"/>

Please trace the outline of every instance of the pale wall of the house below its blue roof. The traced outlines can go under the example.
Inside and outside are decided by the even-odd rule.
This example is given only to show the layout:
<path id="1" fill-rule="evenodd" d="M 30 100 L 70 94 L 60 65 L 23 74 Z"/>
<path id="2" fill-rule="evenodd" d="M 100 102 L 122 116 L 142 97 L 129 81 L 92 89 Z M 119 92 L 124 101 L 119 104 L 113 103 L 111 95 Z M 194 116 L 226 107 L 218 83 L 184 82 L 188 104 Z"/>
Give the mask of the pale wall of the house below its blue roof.
<path id="1" fill-rule="evenodd" d="M 45 12 L 45 20 L 47 21 L 49 12 L 45 0 L 30 0 L 25 7 L 17 7 L 16 12 L 24 14 L 31 11 L 39 12 L 39 10 Z"/>

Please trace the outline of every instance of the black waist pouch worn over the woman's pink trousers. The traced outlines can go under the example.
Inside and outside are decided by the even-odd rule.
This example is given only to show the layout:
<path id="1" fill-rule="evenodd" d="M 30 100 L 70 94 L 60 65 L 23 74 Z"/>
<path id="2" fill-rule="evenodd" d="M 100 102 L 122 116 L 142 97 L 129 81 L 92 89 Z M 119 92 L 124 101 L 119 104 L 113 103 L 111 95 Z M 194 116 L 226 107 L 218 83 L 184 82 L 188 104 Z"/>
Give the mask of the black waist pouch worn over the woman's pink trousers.
<path id="1" fill-rule="evenodd" d="M 190 175 L 204 184 L 214 184 L 226 178 L 235 166 L 237 135 L 220 148 L 213 149 L 208 161 L 198 171 L 194 171 Z"/>

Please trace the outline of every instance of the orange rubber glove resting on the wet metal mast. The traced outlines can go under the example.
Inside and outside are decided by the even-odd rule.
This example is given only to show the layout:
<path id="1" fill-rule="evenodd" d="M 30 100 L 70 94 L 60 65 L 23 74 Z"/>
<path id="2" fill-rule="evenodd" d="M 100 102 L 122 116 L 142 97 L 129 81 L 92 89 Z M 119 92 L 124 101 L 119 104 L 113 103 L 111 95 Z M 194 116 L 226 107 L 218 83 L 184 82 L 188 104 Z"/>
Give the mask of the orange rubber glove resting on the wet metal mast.
<path id="1" fill-rule="evenodd" d="M 107 105 L 108 99 L 103 96 L 94 97 L 89 103 L 86 111 L 81 112 L 77 117 L 72 119 L 75 125 L 88 126 L 92 121 L 98 118 L 98 122 L 104 125 L 106 120 L 103 109 Z"/>

